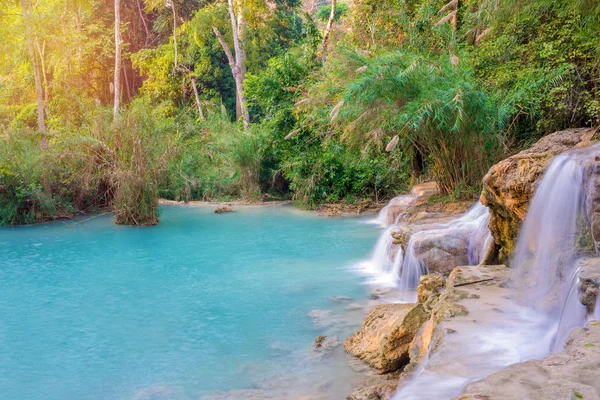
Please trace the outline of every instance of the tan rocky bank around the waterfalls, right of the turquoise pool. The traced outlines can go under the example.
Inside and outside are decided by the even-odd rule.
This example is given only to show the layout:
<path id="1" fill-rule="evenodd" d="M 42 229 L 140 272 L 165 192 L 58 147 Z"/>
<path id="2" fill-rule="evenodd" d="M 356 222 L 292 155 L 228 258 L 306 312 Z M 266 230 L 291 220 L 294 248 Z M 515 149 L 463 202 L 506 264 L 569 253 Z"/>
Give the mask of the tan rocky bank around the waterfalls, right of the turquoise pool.
<path id="1" fill-rule="evenodd" d="M 390 202 L 380 214 L 380 221 L 391 225 L 386 231 L 391 243 L 381 246 L 386 262 L 394 264 L 392 273 L 405 274 L 406 257 L 412 257 L 420 268 L 418 275 L 428 275 L 420 278 L 416 302 L 376 306 L 363 327 L 345 341 L 346 352 L 381 377 L 355 387 L 348 399 L 600 398 L 600 381 L 592 378 L 600 376 L 600 322 L 576 329 L 564 352 L 547 356 L 550 349 L 562 348 L 555 343 L 561 337 L 552 327 L 557 317 L 519 303 L 515 288 L 521 277 L 513 270 L 486 265 L 509 261 L 534 192 L 553 158 L 591 146 L 596 134 L 589 129 L 556 132 L 490 169 L 481 195 L 489 210 L 490 233 L 485 251 L 477 257 L 472 257 L 470 241 L 480 244 L 482 233 L 474 239 L 472 230 L 463 231 L 461 224 L 449 222 L 457 221 L 455 215 L 417 211 L 408 196 Z M 600 159 L 585 157 L 580 185 L 587 222 L 581 222 L 583 228 L 571 249 L 578 258 L 594 254 L 600 237 L 600 191 L 596 190 Z M 581 318 L 598 319 L 600 259 L 580 258 L 572 270 L 579 279 L 568 301 L 584 310 Z M 565 284 L 568 288 L 569 282 Z M 561 326 L 565 318 L 574 317 L 561 316 Z M 573 321 L 565 323 L 569 329 Z"/>

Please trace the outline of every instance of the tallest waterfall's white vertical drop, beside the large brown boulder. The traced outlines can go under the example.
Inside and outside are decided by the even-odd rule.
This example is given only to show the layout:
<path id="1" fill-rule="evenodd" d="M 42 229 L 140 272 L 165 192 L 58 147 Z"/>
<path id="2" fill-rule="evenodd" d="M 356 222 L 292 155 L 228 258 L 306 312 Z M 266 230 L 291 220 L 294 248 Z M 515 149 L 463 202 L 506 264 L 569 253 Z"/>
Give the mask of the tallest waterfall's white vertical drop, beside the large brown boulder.
<path id="1" fill-rule="evenodd" d="M 585 250 L 579 241 L 590 230 L 589 183 L 595 168 L 589 163 L 598 156 L 600 147 L 592 146 L 554 158 L 535 192 L 513 258 L 519 300 L 556 321 L 553 351 L 586 322 L 576 261 Z"/>

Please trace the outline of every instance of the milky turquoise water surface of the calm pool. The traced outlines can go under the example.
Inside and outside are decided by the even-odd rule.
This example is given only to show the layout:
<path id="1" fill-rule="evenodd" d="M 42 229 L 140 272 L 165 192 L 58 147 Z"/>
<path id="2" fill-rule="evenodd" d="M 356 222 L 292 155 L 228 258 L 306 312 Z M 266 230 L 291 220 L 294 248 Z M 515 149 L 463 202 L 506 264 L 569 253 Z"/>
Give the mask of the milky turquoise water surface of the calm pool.
<path id="1" fill-rule="evenodd" d="M 360 325 L 363 311 L 343 310 L 368 289 L 346 267 L 378 229 L 292 207 L 212 211 L 163 207 L 151 228 L 103 216 L 0 229 L 2 399 L 196 400 L 293 382 L 349 392 L 323 376 L 348 366 L 310 345 Z"/>

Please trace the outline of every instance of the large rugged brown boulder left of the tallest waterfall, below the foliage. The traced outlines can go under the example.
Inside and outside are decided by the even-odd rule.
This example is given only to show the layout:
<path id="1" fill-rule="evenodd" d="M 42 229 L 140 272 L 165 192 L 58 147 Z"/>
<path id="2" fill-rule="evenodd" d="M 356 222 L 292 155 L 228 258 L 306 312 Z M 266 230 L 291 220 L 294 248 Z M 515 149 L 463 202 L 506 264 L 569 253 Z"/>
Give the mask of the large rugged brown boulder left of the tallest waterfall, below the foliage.
<path id="1" fill-rule="evenodd" d="M 490 210 L 489 227 L 501 262 L 508 261 L 513 252 L 519 227 L 550 160 L 591 145 L 594 134 L 586 128 L 555 132 L 490 168 L 483 178 L 481 202 Z M 600 221 L 598 225 L 600 228 Z"/>

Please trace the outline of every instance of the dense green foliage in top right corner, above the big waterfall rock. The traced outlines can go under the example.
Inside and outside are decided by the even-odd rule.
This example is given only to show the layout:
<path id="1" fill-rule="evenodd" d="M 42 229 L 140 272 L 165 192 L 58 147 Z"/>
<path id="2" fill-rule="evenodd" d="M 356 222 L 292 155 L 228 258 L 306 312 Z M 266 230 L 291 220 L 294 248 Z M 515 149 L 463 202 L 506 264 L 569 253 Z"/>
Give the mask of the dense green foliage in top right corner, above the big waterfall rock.
<path id="1" fill-rule="evenodd" d="M 474 68 L 499 96 L 517 100 L 519 139 L 598 123 L 598 5 L 583 13 L 577 2 L 535 0 L 481 11 L 499 18 L 474 47 Z"/>

